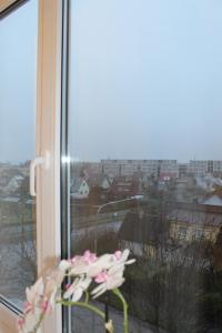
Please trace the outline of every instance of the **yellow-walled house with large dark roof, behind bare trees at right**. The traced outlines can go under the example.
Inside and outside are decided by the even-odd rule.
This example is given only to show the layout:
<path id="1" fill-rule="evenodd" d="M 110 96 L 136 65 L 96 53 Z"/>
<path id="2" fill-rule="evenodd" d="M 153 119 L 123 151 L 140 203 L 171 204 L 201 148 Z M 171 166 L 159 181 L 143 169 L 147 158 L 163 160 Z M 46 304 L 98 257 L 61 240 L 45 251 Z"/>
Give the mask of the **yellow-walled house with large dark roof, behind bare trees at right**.
<path id="1" fill-rule="evenodd" d="M 122 248 L 135 255 L 167 255 L 178 251 L 178 245 L 193 241 L 215 242 L 222 225 L 222 209 L 193 203 L 169 204 L 170 212 L 152 215 L 141 211 L 129 212 L 119 230 Z M 178 244 L 178 245 L 176 245 Z"/>

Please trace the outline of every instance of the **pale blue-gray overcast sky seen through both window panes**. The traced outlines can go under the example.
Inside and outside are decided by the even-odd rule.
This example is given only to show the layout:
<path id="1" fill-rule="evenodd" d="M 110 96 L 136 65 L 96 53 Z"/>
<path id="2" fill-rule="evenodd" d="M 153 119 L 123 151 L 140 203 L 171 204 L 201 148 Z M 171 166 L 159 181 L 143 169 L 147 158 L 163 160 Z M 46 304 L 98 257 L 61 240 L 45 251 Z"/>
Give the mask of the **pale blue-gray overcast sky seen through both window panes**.
<path id="1" fill-rule="evenodd" d="M 71 152 L 222 160 L 222 1 L 71 0 Z M 0 161 L 34 152 L 37 1 L 0 22 Z"/>

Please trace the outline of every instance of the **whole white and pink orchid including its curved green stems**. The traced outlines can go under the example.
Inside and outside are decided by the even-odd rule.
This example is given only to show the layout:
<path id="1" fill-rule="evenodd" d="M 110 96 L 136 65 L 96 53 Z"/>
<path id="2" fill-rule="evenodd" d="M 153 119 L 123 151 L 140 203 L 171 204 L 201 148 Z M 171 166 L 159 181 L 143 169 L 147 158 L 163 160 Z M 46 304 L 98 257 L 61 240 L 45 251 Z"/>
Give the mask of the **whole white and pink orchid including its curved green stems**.
<path id="1" fill-rule="evenodd" d="M 62 260 L 46 279 L 40 278 L 31 287 L 27 287 L 27 301 L 23 314 L 18 319 L 19 333 L 37 333 L 44 316 L 50 314 L 56 304 L 80 306 L 90 310 L 104 320 L 107 332 L 114 332 L 111 320 L 105 322 L 105 314 L 90 302 L 107 291 L 118 296 L 123 306 L 123 329 L 129 333 L 128 304 L 119 286 L 124 282 L 125 265 L 135 260 L 128 260 L 129 250 L 97 256 L 89 250 L 83 255 Z M 64 285 L 64 281 L 69 283 Z"/>

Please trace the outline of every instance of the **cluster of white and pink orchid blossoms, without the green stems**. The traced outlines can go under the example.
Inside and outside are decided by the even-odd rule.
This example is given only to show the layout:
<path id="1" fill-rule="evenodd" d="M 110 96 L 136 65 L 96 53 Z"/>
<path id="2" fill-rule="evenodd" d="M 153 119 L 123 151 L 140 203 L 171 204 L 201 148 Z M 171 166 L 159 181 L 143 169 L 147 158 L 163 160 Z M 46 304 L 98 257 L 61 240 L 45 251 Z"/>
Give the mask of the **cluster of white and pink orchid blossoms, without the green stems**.
<path id="1" fill-rule="evenodd" d="M 44 314 L 53 310 L 65 276 L 73 276 L 73 282 L 65 286 L 63 300 L 71 297 L 72 302 L 81 300 L 92 280 L 99 284 L 91 293 L 93 299 L 107 290 L 119 287 L 124 282 L 125 265 L 134 262 L 134 260 L 128 260 L 129 254 L 129 250 L 123 252 L 117 250 L 113 254 L 103 254 L 98 258 L 95 253 L 87 250 L 83 255 L 61 260 L 58 269 L 53 270 L 47 279 L 40 278 L 31 287 L 27 287 L 23 315 L 18 320 L 19 333 L 30 333 L 37 326 L 39 327 Z M 111 326 L 110 332 L 112 332 Z"/>

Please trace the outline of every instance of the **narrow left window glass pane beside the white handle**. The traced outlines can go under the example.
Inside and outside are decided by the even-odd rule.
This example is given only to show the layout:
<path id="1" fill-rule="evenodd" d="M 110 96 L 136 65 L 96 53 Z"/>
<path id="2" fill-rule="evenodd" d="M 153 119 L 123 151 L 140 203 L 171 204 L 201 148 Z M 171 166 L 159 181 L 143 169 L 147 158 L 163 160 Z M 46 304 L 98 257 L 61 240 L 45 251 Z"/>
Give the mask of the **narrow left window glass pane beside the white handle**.
<path id="1" fill-rule="evenodd" d="M 36 203 L 29 164 L 36 150 L 38 1 L 0 21 L 0 294 L 21 305 L 36 280 Z"/>

